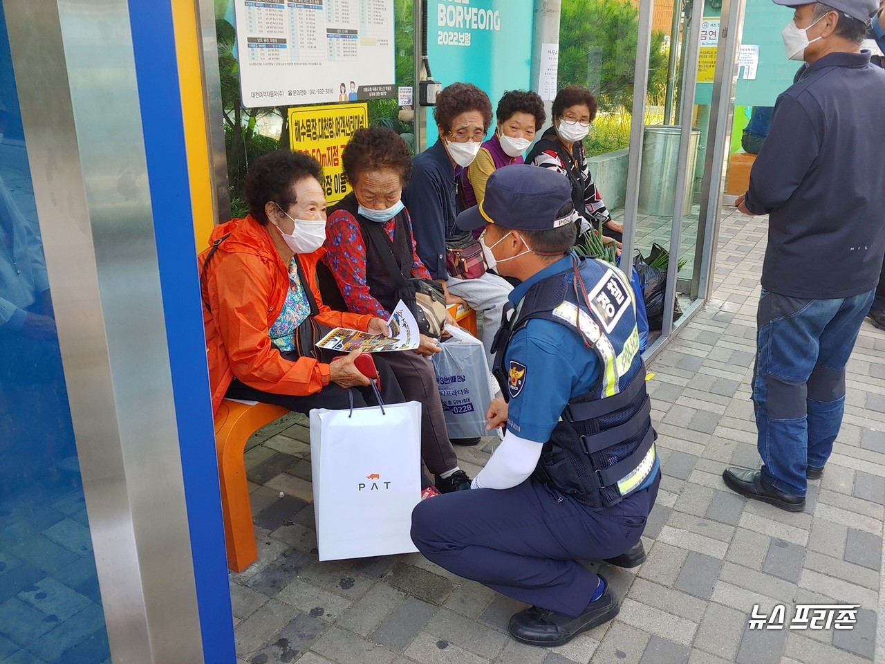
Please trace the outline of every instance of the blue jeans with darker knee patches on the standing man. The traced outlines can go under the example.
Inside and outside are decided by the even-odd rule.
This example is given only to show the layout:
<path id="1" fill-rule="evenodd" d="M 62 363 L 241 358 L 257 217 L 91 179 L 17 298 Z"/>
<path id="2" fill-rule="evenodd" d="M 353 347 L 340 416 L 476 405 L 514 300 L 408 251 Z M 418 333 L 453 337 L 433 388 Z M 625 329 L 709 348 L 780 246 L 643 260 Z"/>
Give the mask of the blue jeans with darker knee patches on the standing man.
<path id="1" fill-rule="evenodd" d="M 804 496 L 805 467 L 823 467 L 842 426 L 845 365 L 873 290 L 805 299 L 762 290 L 753 405 L 762 476 Z"/>

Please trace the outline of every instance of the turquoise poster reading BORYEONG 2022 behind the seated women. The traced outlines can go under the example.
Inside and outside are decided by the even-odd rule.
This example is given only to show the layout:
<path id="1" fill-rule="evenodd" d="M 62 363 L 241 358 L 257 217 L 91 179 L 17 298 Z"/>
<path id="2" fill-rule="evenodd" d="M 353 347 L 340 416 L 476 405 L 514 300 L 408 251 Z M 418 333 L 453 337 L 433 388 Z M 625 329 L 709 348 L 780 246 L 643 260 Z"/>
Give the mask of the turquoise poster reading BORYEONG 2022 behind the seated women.
<path id="1" fill-rule="evenodd" d="M 489 95 L 493 109 L 506 90 L 534 89 L 529 46 L 534 15 L 533 0 L 427 0 L 427 56 L 434 79 L 443 87 L 473 83 Z M 427 145 L 435 141 L 428 114 Z"/>

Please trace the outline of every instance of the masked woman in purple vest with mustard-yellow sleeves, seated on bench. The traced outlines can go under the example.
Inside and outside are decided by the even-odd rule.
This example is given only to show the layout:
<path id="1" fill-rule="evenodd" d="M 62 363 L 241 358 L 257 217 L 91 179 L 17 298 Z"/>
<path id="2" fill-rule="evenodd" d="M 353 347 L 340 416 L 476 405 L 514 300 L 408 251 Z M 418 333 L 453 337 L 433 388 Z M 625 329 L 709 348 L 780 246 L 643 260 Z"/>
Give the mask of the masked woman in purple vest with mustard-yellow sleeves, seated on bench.
<path id="1" fill-rule="evenodd" d="M 482 143 L 479 154 L 464 172 L 464 198 L 473 207 L 486 197 L 486 181 L 498 168 L 522 164 L 522 155 L 535 140 L 535 132 L 547 120 L 543 99 L 525 90 L 504 92 L 495 111 L 495 135 Z M 479 235 L 478 229 L 474 235 Z"/>

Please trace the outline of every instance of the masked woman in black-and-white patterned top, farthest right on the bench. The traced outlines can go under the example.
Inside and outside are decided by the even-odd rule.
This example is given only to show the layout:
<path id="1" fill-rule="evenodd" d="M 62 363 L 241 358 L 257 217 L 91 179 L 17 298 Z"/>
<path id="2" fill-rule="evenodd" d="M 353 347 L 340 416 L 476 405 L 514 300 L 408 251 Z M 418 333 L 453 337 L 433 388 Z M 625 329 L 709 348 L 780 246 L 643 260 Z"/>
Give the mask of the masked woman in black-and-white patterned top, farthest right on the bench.
<path id="1" fill-rule="evenodd" d="M 596 97 L 589 89 L 570 85 L 559 90 L 550 110 L 553 126 L 535 143 L 526 163 L 566 175 L 572 183 L 574 209 L 588 222 L 595 222 L 596 218 L 602 220 L 603 235 L 620 242 L 624 225 L 613 220 L 605 208 L 602 194 L 590 175 L 587 152 L 584 151 L 584 138 L 596 118 Z M 581 225 L 581 229 L 586 228 L 588 224 Z"/>

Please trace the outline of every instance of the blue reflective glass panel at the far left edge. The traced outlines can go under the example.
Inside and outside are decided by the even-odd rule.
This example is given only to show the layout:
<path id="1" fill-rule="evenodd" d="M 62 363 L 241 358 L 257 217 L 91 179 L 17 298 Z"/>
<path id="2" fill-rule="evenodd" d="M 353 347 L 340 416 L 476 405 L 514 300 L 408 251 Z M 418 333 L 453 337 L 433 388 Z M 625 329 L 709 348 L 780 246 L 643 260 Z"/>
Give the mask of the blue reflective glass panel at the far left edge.
<path id="1" fill-rule="evenodd" d="M 0 9 L 0 660 L 110 662 Z"/>

